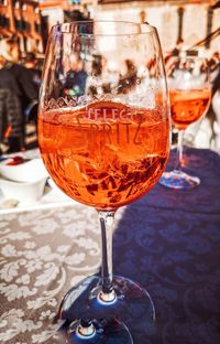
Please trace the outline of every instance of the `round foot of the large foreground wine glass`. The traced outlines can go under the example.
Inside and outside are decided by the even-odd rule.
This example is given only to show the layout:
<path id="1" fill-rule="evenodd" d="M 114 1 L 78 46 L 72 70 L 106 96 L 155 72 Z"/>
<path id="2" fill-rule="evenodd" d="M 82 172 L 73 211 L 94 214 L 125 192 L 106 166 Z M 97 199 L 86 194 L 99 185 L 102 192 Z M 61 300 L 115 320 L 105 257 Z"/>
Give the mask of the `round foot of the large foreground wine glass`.
<path id="1" fill-rule="evenodd" d="M 58 319 L 65 321 L 63 329 L 67 337 L 76 340 L 76 331 L 78 331 L 76 329 L 78 329 L 77 326 L 81 321 L 91 322 L 96 330 L 95 335 L 98 336 L 98 342 L 90 342 L 94 340 L 91 337 L 88 338 L 88 343 L 117 343 L 120 335 L 123 338 L 127 333 L 127 336 L 130 337 L 127 326 L 132 327 L 132 331 L 135 331 L 135 324 L 138 327 L 151 329 L 151 326 L 154 326 L 154 304 L 142 287 L 122 277 L 114 277 L 112 287 L 113 297 L 106 298 L 105 301 L 101 297 L 101 279 L 99 276 L 88 277 L 68 291 L 58 312 Z M 114 326 L 116 324 L 117 326 Z M 72 330 L 72 327 L 75 330 Z M 101 329 L 102 337 L 106 336 L 105 341 L 98 329 Z M 69 333 L 74 334 L 69 335 Z M 110 341 L 111 337 L 114 337 L 114 342 Z M 73 340 L 67 343 L 75 343 Z M 131 338 L 127 338 L 127 342 L 121 341 L 120 343 L 130 344 L 131 341 Z"/>

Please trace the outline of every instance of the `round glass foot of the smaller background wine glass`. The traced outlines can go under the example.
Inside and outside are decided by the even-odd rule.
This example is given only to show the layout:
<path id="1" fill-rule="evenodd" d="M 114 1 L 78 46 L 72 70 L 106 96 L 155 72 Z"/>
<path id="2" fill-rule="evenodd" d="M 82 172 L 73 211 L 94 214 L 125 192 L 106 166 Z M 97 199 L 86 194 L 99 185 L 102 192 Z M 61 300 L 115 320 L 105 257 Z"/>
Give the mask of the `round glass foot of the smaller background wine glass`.
<path id="1" fill-rule="evenodd" d="M 197 176 L 191 176 L 183 171 L 174 170 L 164 172 L 160 179 L 160 184 L 170 189 L 188 190 L 200 184 Z"/>

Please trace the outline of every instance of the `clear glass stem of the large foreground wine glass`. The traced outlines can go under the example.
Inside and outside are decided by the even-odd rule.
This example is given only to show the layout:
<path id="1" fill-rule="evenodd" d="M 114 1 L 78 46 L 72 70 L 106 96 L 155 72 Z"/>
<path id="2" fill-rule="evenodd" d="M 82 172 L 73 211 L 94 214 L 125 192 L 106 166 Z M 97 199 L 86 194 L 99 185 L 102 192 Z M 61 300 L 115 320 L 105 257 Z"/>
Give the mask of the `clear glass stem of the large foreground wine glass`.
<path id="1" fill-rule="evenodd" d="M 102 292 L 112 292 L 112 229 L 114 223 L 114 212 L 99 212 L 101 225 L 102 265 L 101 279 Z"/>

